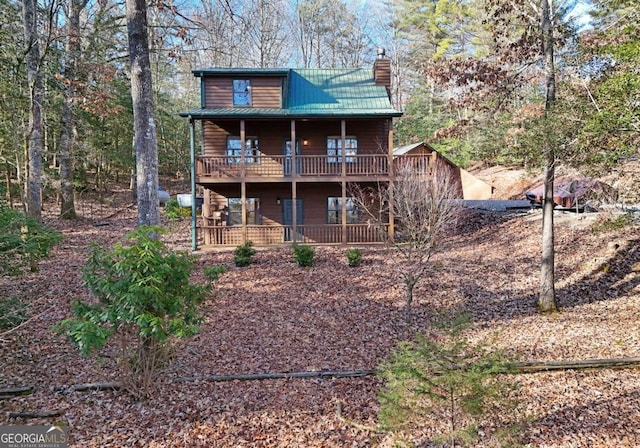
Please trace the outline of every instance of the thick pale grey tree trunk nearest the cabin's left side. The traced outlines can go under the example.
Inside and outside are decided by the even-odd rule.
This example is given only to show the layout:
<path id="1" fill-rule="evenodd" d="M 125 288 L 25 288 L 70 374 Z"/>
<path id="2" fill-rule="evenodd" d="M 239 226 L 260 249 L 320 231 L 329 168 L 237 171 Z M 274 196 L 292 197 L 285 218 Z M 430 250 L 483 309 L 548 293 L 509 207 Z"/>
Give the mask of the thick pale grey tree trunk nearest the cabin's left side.
<path id="1" fill-rule="evenodd" d="M 126 0 L 126 9 L 131 62 L 138 225 L 157 225 L 160 223 L 158 143 L 154 120 L 146 3 L 144 0 Z"/>

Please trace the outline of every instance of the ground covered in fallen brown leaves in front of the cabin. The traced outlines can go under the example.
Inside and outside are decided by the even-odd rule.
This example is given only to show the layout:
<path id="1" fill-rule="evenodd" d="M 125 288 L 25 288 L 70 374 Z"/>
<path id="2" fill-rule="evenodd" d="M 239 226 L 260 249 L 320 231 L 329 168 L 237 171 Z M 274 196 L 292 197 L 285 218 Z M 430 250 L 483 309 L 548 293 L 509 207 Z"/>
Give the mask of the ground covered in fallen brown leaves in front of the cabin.
<path id="1" fill-rule="evenodd" d="M 80 221 L 48 222 L 64 242 L 38 273 L 0 279 L 2 297 L 30 303 L 31 320 L 0 332 L 0 387 L 35 392 L 0 400 L 0 425 L 69 425 L 73 447 L 388 446 L 375 431 L 375 377 L 182 382 L 217 374 L 375 369 L 396 343 L 428 331 L 450 308 L 472 312 L 471 338 L 490 338 L 523 361 L 640 356 L 638 228 L 593 233 L 593 216 L 558 215 L 557 293 L 562 311 L 536 313 L 540 215 L 469 213 L 417 288 L 404 316 L 399 258 L 363 248 L 350 268 L 342 247 L 317 249 L 300 268 L 288 248 L 260 250 L 236 268 L 230 251 L 201 253 L 228 272 L 205 304 L 206 322 L 177 347 L 158 393 L 134 402 L 123 392 L 70 392 L 74 384 L 116 379 L 113 351 L 82 358 L 50 327 L 86 297 L 80 280 L 89 242 L 111 244 L 135 225 L 132 209 L 92 209 Z M 188 249 L 188 223 L 169 225 L 169 243 Z M 525 445 L 640 446 L 640 372 L 566 371 L 519 375 Z M 12 412 L 55 411 L 41 419 Z M 427 425 L 428 427 L 428 425 Z"/>

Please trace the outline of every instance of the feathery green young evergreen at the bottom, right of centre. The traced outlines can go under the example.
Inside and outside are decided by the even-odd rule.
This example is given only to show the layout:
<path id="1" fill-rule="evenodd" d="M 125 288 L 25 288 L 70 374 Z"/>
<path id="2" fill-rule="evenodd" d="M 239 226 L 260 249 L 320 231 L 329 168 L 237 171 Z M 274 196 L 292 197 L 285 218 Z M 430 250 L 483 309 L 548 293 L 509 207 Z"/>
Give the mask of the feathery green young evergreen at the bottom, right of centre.
<path id="1" fill-rule="evenodd" d="M 468 342 L 462 333 L 467 323 L 466 315 L 450 318 L 437 340 L 418 335 L 402 342 L 381 365 L 386 385 L 379 418 L 384 430 L 435 434 L 429 441 L 434 446 L 477 446 L 488 439 L 517 445 L 517 424 L 509 421 L 515 385 L 504 375 L 510 362 L 500 351 Z M 496 429 L 483 434 L 480 427 Z M 416 445 L 429 444 L 425 442 Z"/>

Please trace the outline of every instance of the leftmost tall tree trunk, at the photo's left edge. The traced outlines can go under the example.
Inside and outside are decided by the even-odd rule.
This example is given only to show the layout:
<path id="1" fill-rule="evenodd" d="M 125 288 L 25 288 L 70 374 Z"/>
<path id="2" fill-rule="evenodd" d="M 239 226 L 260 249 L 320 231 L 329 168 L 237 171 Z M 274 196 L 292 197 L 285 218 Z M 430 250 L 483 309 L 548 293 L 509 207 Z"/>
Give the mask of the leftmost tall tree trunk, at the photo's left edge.
<path id="1" fill-rule="evenodd" d="M 29 84 L 29 137 L 27 146 L 27 214 L 42 220 L 42 151 L 44 147 L 44 122 L 42 108 L 44 86 L 40 70 L 40 43 L 38 40 L 37 1 L 23 0 L 24 37 L 26 45 L 27 80 Z"/>

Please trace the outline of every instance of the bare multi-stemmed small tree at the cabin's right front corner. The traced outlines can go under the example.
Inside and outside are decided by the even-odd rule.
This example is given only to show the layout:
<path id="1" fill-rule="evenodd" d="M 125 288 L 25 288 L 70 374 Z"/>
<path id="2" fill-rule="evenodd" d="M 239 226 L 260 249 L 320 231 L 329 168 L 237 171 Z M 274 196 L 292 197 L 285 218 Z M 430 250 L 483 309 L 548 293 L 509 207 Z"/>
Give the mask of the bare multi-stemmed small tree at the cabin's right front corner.
<path id="1" fill-rule="evenodd" d="M 413 290 L 429 269 L 429 260 L 443 246 L 456 227 L 459 216 L 459 185 L 442 168 L 425 159 L 399 159 L 393 180 L 385 185 L 349 186 L 360 212 L 400 259 L 399 276 L 405 286 L 407 314 L 411 312 Z M 397 222 L 388 232 L 389 216 Z"/>

